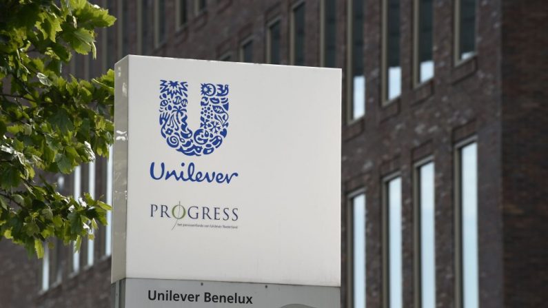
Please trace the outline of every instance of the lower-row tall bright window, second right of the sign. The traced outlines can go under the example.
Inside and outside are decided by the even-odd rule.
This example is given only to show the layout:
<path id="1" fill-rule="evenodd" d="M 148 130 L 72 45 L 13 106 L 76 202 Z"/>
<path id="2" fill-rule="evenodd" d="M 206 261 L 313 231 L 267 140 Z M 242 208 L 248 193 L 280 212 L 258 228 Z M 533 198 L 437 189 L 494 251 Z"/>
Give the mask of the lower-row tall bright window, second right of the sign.
<path id="1" fill-rule="evenodd" d="M 384 307 L 403 307 L 401 178 L 385 182 L 383 206 Z"/>

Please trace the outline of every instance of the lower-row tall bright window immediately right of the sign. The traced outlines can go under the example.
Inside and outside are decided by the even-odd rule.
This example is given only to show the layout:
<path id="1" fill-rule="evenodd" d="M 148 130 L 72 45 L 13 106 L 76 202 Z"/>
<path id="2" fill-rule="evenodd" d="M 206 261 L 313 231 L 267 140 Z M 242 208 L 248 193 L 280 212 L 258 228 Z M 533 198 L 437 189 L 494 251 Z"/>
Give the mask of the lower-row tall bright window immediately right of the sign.
<path id="1" fill-rule="evenodd" d="M 352 298 L 365 307 L 365 194 L 350 198 L 352 205 Z"/>

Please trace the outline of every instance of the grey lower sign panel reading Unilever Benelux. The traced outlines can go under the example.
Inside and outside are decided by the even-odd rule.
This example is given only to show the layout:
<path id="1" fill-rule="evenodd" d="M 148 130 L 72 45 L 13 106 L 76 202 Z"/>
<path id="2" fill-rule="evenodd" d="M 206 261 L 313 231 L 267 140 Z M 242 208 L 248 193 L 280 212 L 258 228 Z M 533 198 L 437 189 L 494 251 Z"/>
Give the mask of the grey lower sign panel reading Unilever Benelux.
<path id="1" fill-rule="evenodd" d="M 338 308 L 339 287 L 134 279 L 112 284 L 114 308 Z"/>

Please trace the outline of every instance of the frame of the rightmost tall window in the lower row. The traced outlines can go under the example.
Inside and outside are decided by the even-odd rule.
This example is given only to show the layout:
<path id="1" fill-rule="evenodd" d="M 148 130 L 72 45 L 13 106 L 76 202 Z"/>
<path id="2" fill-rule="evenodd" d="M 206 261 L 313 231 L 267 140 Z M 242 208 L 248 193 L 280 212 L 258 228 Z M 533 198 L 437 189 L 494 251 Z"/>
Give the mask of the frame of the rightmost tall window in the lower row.
<path id="1" fill-rule="evenodd" d="M 455 278 L 454 278 L 454 287 L 455 287 L 455 307 L 456 308 L 466 308 L 464 306 L 464 287 L 463 287 L 463 280 L 464 280 L 464 274 L 463 274 L 463 227 L 462 227 L 462 214 L 463 214 L 463 203 L 462 203 L 462 185 L 460 184 L 462 181 L 462 170 L 463 165 L 461 163 L 462 160 L 462 151 L 465 147 L 471 144 L 476 144 L 476 181 L 479 183 L 479 164 L 478 164 L 478 158 L 479 158 L 479 142 L 478 142 L 478 136 L 470 136 L 468 138 L 463 139 L 462 141 L 459 141 L 454 145 L 454 271 L 455 271 Z M 477 189 L 477 187 L 476 187 Z M 478 197 L 479 189 L 476 190 L 476 197 Z M 477 201 L 476 201 L 477 202 Z M 476 203 L 477 208 L 479 209 L 479 205 Z M 479 215 L 478 215 L 479 216 Z M 478 307 L 480 307 L 480 254 L 479 254 L 479 220 L 476 220 L 477 223 L 477 229 L 478 232 L 477 240 L 478 243 L 476 243 L 478 246 L 476 247 L 476 260 L 478 263 Z"/>

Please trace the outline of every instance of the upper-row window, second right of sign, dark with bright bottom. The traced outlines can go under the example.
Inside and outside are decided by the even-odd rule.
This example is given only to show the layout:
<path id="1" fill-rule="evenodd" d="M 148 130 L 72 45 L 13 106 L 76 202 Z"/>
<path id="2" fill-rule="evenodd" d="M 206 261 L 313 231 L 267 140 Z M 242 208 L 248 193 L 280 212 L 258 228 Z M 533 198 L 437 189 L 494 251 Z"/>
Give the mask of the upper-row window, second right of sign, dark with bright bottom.
<path id="1" fill-rule="evenodd" d="M 401 94 L 400 0 L 383 1 L 383 101 Z"/>

